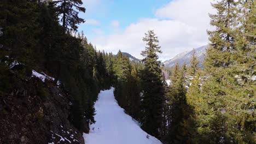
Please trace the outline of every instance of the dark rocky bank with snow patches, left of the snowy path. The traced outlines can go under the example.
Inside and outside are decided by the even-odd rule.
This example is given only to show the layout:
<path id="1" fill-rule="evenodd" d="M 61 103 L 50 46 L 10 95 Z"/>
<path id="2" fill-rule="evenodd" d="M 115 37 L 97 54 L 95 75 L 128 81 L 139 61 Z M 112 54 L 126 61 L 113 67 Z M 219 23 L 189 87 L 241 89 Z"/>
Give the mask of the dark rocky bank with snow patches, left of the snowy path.
<path id="1" fill-rule="evenodd" d="M 72 98 L 53 82 L 37 77 L 19 80 L 0 93 L 0 143 L 84 143 L 83 133 L 69 122 Z"/>

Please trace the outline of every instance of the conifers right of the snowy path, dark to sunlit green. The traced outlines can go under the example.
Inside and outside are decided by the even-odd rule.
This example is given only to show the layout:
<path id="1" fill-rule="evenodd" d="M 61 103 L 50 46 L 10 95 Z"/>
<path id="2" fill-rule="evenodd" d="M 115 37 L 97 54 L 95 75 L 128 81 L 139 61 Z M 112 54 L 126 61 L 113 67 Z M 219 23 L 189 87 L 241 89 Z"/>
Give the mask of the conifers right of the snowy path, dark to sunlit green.
<path id="1" fill-rule="evenodd" d="M 194 51 L 189 66 L 170 71 L 170 86 L 158 60 L 158 38 L 148 31 L 143 67 L 119 71 L 125 73 L 115 89 L 119 105 L 164 143 L 255 143 L 255 5 L 213 3 L 205 69 L 197 66 Z"/>

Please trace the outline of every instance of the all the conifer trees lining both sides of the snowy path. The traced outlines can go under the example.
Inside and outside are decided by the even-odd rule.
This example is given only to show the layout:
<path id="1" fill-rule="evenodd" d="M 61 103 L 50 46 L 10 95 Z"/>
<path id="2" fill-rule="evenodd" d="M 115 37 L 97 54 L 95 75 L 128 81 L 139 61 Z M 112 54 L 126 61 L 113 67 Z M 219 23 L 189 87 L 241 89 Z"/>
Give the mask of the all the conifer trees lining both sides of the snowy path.
<path id="1" fill-rule="evenodd" d="M 118 104 L 141 128 L 164 143 L 255 143 L 256 2 L 212 4 L 214 31 L 205 62 L 170 71 L 167 86 L 158 37 L 148 31 L 141 62 L 97 51 L 77 32 L 81 0 L 0 2 L 0 94 L 7 95 L 32 69 L 55 77 L 72 95 L 70 121 L 94 123 L 101 89 L 115 87 Z M 19 62 L 20 67 L 9 65 Z"/>

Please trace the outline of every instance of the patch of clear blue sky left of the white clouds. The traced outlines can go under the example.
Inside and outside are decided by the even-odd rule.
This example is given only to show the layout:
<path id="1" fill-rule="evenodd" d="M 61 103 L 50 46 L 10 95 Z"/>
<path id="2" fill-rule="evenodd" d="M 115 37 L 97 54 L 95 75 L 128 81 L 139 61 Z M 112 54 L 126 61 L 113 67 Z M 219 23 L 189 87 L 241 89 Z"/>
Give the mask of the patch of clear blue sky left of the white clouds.
<path id="1" fill-rule="evenodd" d="M 87 9 L 85 14 L 80 14 L 84 19 L 96 20 L 98 25 L 80 25 L 79 31 L 84 31 L 88 37 L 92 37 L 95 29 L 101 29 L 104 34 L 111 34 L 112 29 L 110 23 L 112 21 L 119 22 L 119 28 L 129 26 L 131 22 L 137 21 L 143 17 L 154 17 L 157 8 L 167 4 L 170 0 L 119 0 L 119 1 L 101 1 L 98 5 L 92 5 L 93 8 Z M 90 4 L 90 2 L 89 2 Z M 86 22 L 85 22 L 86 24 Z"/>

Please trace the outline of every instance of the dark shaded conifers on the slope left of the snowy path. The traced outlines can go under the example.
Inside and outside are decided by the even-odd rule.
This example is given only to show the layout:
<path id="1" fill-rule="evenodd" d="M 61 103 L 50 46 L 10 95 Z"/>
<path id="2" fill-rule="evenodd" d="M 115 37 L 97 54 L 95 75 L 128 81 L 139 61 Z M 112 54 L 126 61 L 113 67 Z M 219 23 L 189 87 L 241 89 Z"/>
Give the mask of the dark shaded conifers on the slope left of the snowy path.
<path id="1" fill-rule="evenodd" d="M 32 69 L 43 71 L 55 78 L 53 85 L 60 81 L 72 96 L 69 120 L 78 129 L 83 121 L 95 122 L 97 95 L 112 85 L 109 59 L 113 57 L 97 51 L 83 33 L 74 35 L 84 22 L 78 17 L 79 11 L 85 12 L 82 4 L 81 0 L 0 2 L 1 97 L 29 80 Z"/>

